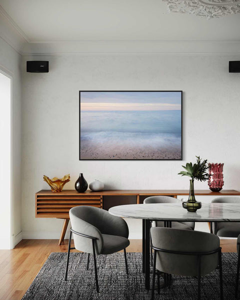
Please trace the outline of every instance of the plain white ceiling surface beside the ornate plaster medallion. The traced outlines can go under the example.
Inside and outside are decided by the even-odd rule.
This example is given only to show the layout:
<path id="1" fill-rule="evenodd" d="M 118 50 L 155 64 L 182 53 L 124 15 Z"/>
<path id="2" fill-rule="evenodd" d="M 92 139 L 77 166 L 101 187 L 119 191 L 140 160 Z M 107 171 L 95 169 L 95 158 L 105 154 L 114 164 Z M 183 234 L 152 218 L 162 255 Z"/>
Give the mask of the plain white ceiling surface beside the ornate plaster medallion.
<path id="1" fill-rule="evenodd" d="M 168 13 L 162 0 L 0 0 L 0 5 L 30 43 L 240 41 L 239 13 L 208 20 Z"/>

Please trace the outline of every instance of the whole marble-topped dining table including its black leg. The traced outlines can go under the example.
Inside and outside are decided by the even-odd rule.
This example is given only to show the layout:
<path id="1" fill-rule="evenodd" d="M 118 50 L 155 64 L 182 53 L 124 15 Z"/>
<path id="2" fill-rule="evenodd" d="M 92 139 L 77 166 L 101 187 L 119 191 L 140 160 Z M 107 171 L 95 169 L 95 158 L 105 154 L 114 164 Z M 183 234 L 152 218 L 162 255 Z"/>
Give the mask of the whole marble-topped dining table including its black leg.
<path id="1" fill-rule="evenodd" d="M 145 288 L 150 288 L 150 221 L 239 222 L 240 203 L 202 203 L 196 212 L 188 212 L 179 203 L 127 204 L 109 208 L 109 213 L 126 218 L 142 219 L 142 270 Z"/>

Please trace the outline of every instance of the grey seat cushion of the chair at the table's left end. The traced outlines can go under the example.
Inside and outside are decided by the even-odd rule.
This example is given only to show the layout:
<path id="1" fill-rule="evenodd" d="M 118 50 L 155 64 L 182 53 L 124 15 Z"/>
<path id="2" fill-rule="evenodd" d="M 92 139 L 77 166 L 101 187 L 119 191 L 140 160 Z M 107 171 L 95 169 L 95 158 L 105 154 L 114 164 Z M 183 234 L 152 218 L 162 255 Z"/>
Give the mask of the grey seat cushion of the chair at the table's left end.
<path id="1" fill-rule="evenodd" d="M 101 254 L 111 254 L 129 246 L 129 239 L 123 236 L 102 234 L 103 247 Z"/>

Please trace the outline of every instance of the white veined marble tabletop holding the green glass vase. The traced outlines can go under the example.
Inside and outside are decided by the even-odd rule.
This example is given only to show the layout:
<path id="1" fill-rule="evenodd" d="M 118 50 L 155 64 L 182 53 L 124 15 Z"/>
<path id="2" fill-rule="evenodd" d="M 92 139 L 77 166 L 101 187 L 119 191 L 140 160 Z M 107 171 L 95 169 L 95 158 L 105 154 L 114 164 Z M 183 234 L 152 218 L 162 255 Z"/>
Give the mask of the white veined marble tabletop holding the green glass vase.
<path id="1" fill-rule="evenodd" d="M 181 202 L 118 205 L 108 211 L 121 217 L 150 220 L 240 221 L 240 203 L 202 203 L 196 212 L 188 212 Z"/>

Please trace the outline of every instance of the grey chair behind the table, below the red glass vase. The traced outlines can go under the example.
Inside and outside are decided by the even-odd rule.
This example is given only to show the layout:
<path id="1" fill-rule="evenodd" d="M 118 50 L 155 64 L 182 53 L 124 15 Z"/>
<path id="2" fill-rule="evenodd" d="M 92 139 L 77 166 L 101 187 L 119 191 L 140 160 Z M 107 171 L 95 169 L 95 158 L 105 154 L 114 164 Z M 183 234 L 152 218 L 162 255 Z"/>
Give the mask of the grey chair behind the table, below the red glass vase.
<path id="1" fill-rule="evenodd" d="M 240 203 L 240 197 L 216 197 L 212 203 Z M 212 222 L 211 233 L 224 237 L 237 237 L 240 233 L 240 222 Z"/>

